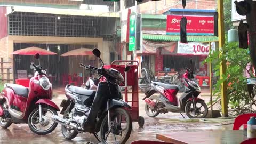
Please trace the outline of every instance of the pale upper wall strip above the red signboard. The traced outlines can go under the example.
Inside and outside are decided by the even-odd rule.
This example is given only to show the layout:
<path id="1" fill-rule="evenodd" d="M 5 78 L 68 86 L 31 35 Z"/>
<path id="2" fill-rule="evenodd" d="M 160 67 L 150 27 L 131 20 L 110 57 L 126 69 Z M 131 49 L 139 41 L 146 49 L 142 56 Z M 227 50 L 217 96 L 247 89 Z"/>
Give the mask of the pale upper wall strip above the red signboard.
<path id="1" fill-rule="evenodd" d="M 217 2 L 214 0 L 187 1 L 185 9 L 215 9 Z M 138 7 L 139 13 L 163 14 L 169 9 L 183 9 L 180 0 L 149 1 Z"/>

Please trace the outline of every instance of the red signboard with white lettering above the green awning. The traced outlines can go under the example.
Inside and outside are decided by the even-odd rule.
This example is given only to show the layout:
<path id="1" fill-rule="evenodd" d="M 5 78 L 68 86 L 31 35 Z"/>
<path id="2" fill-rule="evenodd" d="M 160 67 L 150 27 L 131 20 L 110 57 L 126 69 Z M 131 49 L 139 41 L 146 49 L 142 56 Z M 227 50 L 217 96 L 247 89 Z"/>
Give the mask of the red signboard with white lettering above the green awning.
<path id="1" fill-rule="evenodd" d="M 213 16 L 184 16 L 187 18 L 187 35 L 214 35 Z M 180 35 L 182 15 L 167 15 L 166 34 Z"/>

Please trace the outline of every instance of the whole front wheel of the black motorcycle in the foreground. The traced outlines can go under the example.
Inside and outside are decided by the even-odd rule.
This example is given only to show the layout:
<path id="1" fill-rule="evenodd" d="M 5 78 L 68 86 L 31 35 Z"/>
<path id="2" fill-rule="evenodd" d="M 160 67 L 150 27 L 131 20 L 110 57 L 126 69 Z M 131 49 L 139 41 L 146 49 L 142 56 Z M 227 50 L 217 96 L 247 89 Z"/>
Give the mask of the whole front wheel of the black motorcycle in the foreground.
<path id="1" fill-rule="evenodd" d="M 111 110 L 111 127 L 109 131 L 108 115 L 103 119 L 100 126 L 101 142 L 105 144 L 124 144 L 130 137 L 132 131 L 132 118 L 123 108 Z"/>

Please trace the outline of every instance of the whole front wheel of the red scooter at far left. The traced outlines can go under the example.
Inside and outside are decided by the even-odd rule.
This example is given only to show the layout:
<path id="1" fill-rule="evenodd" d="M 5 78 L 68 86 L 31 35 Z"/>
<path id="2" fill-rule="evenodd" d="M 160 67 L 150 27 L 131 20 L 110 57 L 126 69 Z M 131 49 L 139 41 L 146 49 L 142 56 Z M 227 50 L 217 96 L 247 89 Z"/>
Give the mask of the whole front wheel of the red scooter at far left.
<path id="1" fill-rule="evenodd" d="M 51 133 L 58 125 L 52 121 L 52 115 L 58 115 L 51 107 L 42 108 L 42 122 L 39 122 L 39 108 L 36 108 L 28 117 L 28 126 L 31 131 L 39 135 Z"/>

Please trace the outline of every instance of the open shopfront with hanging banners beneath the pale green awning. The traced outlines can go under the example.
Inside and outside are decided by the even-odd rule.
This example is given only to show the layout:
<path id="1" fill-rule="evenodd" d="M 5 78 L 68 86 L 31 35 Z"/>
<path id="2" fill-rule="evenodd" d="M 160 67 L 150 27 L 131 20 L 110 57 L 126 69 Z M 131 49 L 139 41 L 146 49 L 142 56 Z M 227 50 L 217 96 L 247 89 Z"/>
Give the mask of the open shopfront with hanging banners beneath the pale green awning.
<path id="1" fill-rule="evenodd" d="M 212 41 L 215 40 L 212 39 Z M 211 43 L 211 50 L 215 50 L 215 42 Z M 206 85 L 205 82 L 207 83 L 207 81 L 205 79 L 209 79 L 210 75 L 209 66 L 207 63 L 203 63 L 203 61 L 209 55 L 209 52 L 209 43 L 143 40 L 142 68 L 152 70 L 155 76 L 158 77 L 176 73 L 183 75 L 185 69 L 190 68 L 193 70 L 196 79 L 198 79 L 198 83 L 203 85 L 204 82 L 204 85 Z M 150 64 L 153 62 L 155 65 Z"/>

